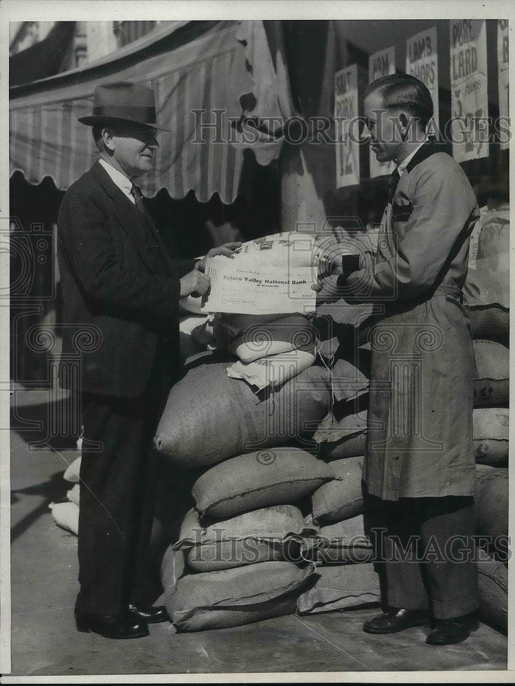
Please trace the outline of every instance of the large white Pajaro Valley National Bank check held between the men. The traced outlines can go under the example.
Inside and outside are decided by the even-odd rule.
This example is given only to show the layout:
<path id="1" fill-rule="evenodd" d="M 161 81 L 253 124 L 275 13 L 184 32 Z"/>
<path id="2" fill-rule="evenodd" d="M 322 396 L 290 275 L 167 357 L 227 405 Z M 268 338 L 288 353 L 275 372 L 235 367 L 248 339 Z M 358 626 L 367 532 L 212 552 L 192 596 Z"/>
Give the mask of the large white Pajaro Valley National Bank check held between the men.
<path id="1" fill-rule="evenodd" d="M 206 261 L 211 290 L 202 312 L 282 314 L 314 311 L 317 246 L 304 234 L 275 234 L 244 244 L 234 259 Z"/>

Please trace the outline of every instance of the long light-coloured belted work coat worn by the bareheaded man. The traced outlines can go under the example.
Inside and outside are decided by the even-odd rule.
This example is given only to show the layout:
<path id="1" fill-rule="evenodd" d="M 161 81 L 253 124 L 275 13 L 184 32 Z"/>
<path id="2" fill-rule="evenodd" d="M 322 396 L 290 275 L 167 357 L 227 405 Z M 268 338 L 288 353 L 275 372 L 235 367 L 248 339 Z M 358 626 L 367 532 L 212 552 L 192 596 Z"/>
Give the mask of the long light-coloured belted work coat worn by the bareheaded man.
<path id="1" fill-rule="evenodd" d="M 400 177 L 375 258 L 347 280 L 378 310 L 363 477 L 382 499 L 474 494 L 475 364 L 460 289 L 478 217 L 464 171 L 428 141 Z"/>

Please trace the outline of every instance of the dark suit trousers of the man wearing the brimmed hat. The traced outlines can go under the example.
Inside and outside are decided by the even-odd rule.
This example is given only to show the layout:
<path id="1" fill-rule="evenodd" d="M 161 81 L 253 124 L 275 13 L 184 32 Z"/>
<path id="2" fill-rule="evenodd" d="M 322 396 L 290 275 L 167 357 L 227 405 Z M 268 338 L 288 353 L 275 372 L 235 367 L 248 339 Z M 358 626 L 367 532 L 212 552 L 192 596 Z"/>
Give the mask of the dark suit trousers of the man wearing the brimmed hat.
<path id="1" fill-rule="evenodd" d="M 145 392 L 135 399 L 82 396 L 80 611 L 119 615 L 130 602 L 155 600 L 147 558 L 160 459 L 152 438 L 167 379 L 155 364 Z"/>

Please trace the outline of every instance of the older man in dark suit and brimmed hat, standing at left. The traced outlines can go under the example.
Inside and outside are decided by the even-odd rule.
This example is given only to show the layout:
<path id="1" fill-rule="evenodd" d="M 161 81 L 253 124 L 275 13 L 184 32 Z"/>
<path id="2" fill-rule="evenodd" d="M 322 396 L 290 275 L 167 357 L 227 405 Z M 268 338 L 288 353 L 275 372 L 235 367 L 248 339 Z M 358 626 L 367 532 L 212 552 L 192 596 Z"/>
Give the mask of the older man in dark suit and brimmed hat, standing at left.
<path id="1" fill-rule="evenodd" d="M 159 467 L 150 447 L 179 367 L 179 299 L 206 296 L 209 278 L 205 259 L 168 255 L 133 184 L 152 169 L 157 132 L 166 130 L 152 88 L 98 86 L 93 115 L 79 121 L 92 126 L 100 159 L 69 187 L 58 215 L 62 386 L 73 387 L 66 361 L 76 334 L 95 331 L 74 388 L 84 425 L 75 617 L 80 631 L 128 639 L 166 619 L 145 572 Z"/>

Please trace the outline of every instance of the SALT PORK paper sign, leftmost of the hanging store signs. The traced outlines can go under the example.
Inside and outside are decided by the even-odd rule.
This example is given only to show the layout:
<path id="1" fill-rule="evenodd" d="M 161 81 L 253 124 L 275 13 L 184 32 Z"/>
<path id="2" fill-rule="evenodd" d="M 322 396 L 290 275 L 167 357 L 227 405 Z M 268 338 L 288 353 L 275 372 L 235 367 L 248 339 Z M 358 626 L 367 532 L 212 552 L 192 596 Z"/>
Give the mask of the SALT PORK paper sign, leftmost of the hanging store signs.
<path id="1" fill-rule="evenodd" d="M 336 188 L 359 183 L 358 130 L 349 128 L 358 117 L 358 65 L 334 75 L 334 128 L 336 131 Z"/>

